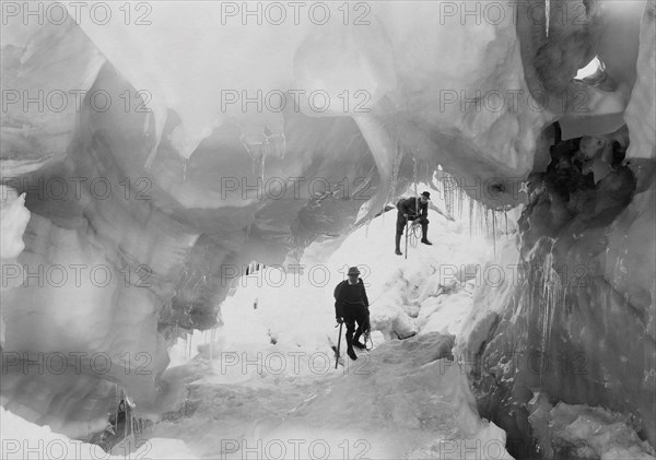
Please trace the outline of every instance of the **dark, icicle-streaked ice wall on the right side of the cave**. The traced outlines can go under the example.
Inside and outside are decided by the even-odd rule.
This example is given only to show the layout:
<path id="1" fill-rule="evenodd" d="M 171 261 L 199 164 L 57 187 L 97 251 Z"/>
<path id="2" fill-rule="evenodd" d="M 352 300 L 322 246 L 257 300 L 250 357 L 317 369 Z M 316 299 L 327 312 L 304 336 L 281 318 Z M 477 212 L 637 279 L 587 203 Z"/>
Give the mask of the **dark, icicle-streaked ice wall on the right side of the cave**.
<path id="1" fill-rule="evenodd" d="M 647 2 L 637 69 L 652 66 L 654 27 L 654 4 Z M 535 392 L 551 404 L 631 414 L 640 436 L 656 439 L 656 194 L 649 160 L 656 142 L 643 122 L 653 116 L 646 106 L 654 106 L 653 92 L 637 83 L 628 131 L 554 143 L 546 170 L 528 180 L 519 252 L 508 266 L 518 271 L 506 273 L 517 286 L 488 288 L 484 300 L 475 302 L 478 311 L 458 347 L 477 363 L 471 373 L 481 415 L 507 429 L 511 445 L 513 437 L 519 443 L 534 436 L 527 403 Z M 636 117 L 640 107 L 645 111 Z M 524 455 L 536 455 L 522 445 Z"/>

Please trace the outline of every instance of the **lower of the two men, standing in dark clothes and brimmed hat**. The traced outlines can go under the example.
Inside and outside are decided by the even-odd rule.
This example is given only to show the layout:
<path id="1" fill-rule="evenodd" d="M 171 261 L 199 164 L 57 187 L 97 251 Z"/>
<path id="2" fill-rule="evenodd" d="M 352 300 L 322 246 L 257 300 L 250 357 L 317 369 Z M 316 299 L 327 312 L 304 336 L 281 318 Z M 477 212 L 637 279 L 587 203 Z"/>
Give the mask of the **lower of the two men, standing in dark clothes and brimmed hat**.
<path id="1" fill-rule="evenodd" d="M 349 279 L 335 287 L 335 316 L 337 322 L 347 325 L 347 354 L 351 359 L 358 359 L 353 346 L 366 349 L 366 345 L 360 342 L 360 337 L 370 330 L 368 298 L 363 281 L 358 278 L 358 267 L 351 267 L 348 274 Z"/>

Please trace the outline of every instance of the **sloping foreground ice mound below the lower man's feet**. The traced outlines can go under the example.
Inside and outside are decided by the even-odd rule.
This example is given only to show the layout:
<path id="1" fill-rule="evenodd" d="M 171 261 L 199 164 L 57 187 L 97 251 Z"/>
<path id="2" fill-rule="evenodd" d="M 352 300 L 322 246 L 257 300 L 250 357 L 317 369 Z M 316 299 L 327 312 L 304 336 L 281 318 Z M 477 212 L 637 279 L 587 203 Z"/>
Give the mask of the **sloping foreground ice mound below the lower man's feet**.
<path id="1" fill-rule="evenodd" d="M 465 450 L 508 458 L 505 434 L 477 415 L 466 373 L 441 358 L 452 344 L 435 332 L 395 340 L 338 369 L 331 354 L 308 359 L 300 347 L 296 367 L 293 349 L 284 346 L 265 349 L 259 370 L 255 354 L 245 368 L 215 355 L 212 371 L 189 386 L 191 414 L 162 423 L 154 436 L 179 437 L 198 456 L 218 456 L 223 448 L 226 458 L 276 443 L 288 449 L 284 458 L 294 458 L 294 439 L 306 456 L 320 444 L 327 458 L 455 459 Z M 268 359 L 273 354 L 284 357 Z"/>

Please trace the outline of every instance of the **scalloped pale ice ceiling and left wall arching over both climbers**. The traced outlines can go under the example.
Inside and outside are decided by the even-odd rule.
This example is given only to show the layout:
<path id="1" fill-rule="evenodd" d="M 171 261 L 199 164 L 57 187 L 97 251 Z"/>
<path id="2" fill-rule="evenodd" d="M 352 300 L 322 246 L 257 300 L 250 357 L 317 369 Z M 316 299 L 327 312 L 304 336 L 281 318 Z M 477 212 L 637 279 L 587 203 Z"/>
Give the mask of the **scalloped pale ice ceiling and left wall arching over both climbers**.
<path id="1" fill-rule="evenodd" d="M 226 264 L 281 262 L 348 232 L 437 165 L 485 205 L 515 207 L 550 163 L 554 121 L 565 140 L 629 135 L 637 188 L 652 193 L 654 2 L 550 0 L 549 21 L 544 0 L 488 3 L 467 2 L 473 15 L 461 2 L 351 4 L 347 24 L 337 3 L 325 24 L 281 3 L 279 25 L 278 12 L 258 24 L 231 2 L 150 2 L 129 17 L 117 3 L 103 24 L 68 5 L 43 25 L 3 4 L 2 260 L 84 268 L 58 288 L 3 270 L 2 350 L 120 363 L 103 376 L 15 371 L 3 404 L 81 436 L 118 381 L 148 412 L 178 328 L 214 326 Z M 604 71 L 575 81 L 595 57 Z M 273 187 L 263 198 L 245 188 L 258 178 Z M 317 178 L 345 181 L 350 199 L 316 205 Z M 636 202 L 640 214 L 654 200 Z M 631 219 L 625 238 L 637 238 Z M 144 352 L 152 374 L 122 371 L 143 363 L 120 356 Z"/>

